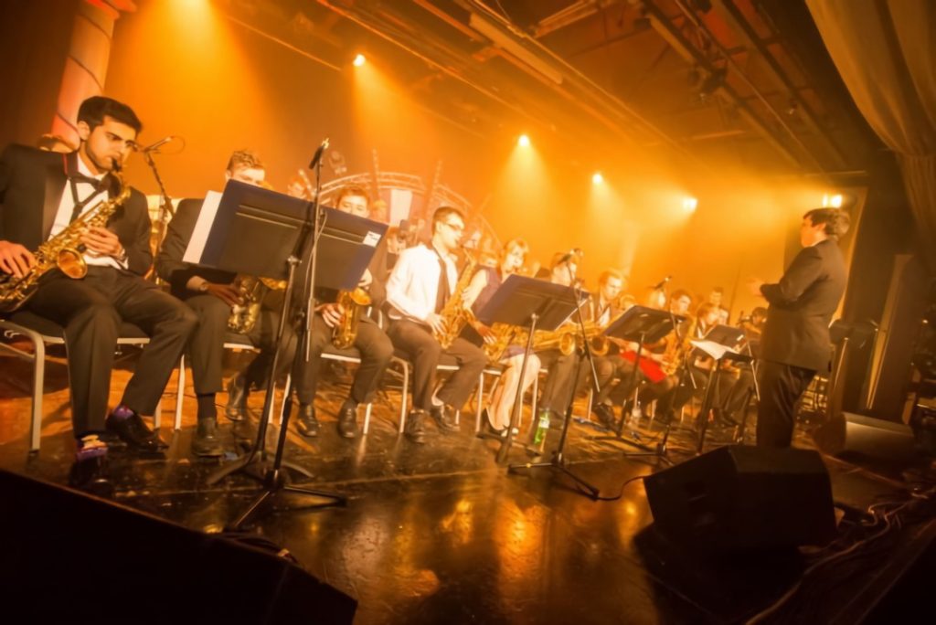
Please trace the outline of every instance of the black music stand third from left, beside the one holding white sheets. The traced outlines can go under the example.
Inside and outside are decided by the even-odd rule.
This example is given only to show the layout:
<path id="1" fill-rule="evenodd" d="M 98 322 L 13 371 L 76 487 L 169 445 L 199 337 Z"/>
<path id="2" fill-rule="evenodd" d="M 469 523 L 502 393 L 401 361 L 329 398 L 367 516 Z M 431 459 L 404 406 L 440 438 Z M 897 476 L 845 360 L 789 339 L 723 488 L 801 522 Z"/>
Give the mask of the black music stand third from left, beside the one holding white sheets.
<path id="1" fill-rule="evenodd" d="M 635 389 L 637 387 L 637 375 L 640 371 L 640 356 L 643 353 L 644 343 L 659 342 L 667 334 L 673 331 L 673 328 L 682 323 L 685 317 L 673 314 L 669 311 L 661 311 L 647 306 L 632 306 L 627 309 L 620 317 L 611 322 L 605 328 L 604 335 L 607 337 L 620 339 L 626 342 L 636 342 L 637 351 L 634 357 L 634 371 L 631 372 L 629 385 Z M 636 402 L 635 402 L 636 408 Z M 593 441 L 608 441 L 614 443 L 624 443 L 640 449 L 642 453 L 628 453 L 626 456 L 658 456 L 665 458 L 666 443 L 669 438 L 669 429 L 671 423 L 666 424 L 666 430 L 663 439 L 655 448 L 648 447 L 643 443 L 631 441 L 624 438 L 624 428 L 627 424 L 627 414 L 622 411 L 621 420 L 618 421 L 618 428 L 611 436 L 594 436 Z M 668 458 L 666 458 L 668 459 Z"/>

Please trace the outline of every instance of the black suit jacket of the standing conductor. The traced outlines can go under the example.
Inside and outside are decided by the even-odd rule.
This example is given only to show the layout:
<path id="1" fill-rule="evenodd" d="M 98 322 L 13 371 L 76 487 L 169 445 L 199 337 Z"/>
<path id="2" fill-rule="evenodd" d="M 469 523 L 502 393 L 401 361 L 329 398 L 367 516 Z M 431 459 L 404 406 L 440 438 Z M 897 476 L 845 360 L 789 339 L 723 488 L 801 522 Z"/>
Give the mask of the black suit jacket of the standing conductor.
<path id="1" fill-rule="evenodd" d="M 824 240 L 800 250 L 779 283 L 761 286 L 770 306 L 760 357 L 828 371 L 828 326 L 845 292 L 846 280 L 838 241 Z"/>

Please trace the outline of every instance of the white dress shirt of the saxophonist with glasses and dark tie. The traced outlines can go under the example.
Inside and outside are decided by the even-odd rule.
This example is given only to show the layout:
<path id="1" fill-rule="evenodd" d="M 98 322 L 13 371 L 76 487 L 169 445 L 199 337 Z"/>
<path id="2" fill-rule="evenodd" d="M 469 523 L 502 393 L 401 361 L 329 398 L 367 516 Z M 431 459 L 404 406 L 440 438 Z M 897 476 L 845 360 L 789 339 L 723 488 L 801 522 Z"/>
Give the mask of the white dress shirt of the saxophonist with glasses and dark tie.
<path id="1" fill-rule="evenodd" d="M 455 292 L 459 270 L 452 257 L 446 256 L 449 296 Z M 439 289 L 439 254 L 423 244 L 403 250 L 387 281 L 387 301 L 406 317 L 426 321 L 435 310 Z M 400 314 L 390 312 L 391 319 Z"/>

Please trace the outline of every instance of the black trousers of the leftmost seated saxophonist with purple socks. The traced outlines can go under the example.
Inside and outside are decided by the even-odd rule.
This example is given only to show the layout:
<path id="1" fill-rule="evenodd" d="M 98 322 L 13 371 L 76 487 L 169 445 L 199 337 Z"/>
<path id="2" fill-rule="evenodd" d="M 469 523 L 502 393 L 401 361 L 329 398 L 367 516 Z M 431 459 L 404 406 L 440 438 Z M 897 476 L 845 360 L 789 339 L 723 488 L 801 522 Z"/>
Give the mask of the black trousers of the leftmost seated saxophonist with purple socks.
<path id="1" fill-rule="evenodd" d="M 122 321 L 150 336 L 121 400 L 139 414 L 154 414 L 185 342 L 197 326 L 195 312 L 182 301 L 137 274 L 110 267 L 89 267 L 81 280 L 66 278 L 56 269 L 43 278 L 26 308 L 65 327 L 77 438 L 104 429 Z"/>

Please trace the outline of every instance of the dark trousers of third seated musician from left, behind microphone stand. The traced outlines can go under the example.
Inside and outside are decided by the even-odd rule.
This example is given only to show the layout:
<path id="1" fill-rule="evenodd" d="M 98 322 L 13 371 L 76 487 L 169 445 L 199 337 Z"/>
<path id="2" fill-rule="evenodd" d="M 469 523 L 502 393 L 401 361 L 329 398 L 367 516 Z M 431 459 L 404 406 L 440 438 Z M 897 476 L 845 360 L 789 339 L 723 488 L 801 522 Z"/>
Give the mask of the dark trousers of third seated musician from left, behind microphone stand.
<path id="1" fill-rule="evenodd" d="M 300 403 L 314 401 L 321 355 L 331 343 L 331 328 L 326 325 L 322 315 L 315 314 L 311 329 L 309 361 L 306 362 L 304 354 L 299 354 L 293 369 L 296 397 Z M 360 353 L 360 366 L 351 384 L 349 397 L 355 403 L 366 403 L 371 400 L 373 392 L 380 384 L 383 373 L 390 363 L 390 357 L 393 356 L 393 343 L 390 342 L 387 333 L 380 329 L 370 317 L 361 316 L 354 346 Z"/>

